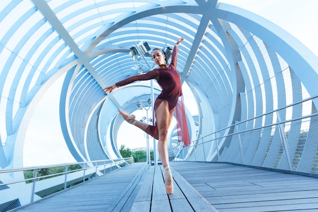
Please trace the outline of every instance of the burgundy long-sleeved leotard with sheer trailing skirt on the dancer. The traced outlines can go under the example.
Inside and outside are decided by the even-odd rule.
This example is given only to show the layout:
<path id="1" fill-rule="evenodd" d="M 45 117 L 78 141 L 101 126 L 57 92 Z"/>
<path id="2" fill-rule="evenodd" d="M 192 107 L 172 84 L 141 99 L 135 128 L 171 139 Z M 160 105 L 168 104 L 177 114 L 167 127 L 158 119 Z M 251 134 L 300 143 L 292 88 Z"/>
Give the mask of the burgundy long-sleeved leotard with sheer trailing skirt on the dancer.
<path id="1" fill-rule="evenodd" d="M 177 53 L 178 53 L 178 47 L 175 46 L 172 51 L 171 63 L 169 67 L 164 69 L 154 69 L 152 71 L 149 71 L 146 74 L 141 74 L 141 75 L 126 78 L 120 82 L 117 82 L 116 85 L 119 87 L 119 86 L 123 86 L 138 80 L 155 79 L 158 82 L 158 84 L 161 86 L 162 92 L 156 98 L 156 101 L 154 102 L 154 113 L 157 108 L 156 102 L 158 99 L 165 100 L 168 102 L 169 111 L 171 111 L 173 108 L 176 107 L 175 114 L 177 118 L 178 140 L 183 141 L 184 145 L 188 146 L 190 139 L 188 135 L 186 118 L 185 118 L 185 111 L 184 111 L 184 104 L 183 104 L 183 97 L 182 97 L 182 84 L 180 80 L 180 75 L 176 71 Z M 154 136 L 154 134 L 157 132 L 155 122 L 153 123 L 153 126 L 148 126 L 146 132 L 149 135 Z"/>

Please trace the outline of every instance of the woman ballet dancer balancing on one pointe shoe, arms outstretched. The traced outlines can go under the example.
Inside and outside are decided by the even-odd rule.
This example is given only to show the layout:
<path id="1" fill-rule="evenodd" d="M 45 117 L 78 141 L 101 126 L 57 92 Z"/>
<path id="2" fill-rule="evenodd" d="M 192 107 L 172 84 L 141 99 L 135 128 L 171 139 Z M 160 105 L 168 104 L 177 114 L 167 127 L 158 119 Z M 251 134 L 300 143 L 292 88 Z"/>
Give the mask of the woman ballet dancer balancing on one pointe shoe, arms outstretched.
<path id="1" fill-rule="evenodd" d="M 176 71 L 178 45 L 183 40 L 184 38 L 180 38 L 176 42 L 172 51 L 171 64 L 169 67 L 167 65 L 168 59 L 166 58 L 165 52 L 163 52 L 161 49 L 153 49 L 152 59 L 155 64 L 158 65 L 158 69 L 149 71 L 146 74 L 129 77 L 103 89 L 104 93 L 108 91 L 112 92 L 112 90 L 116 87 L 123 86 L 137 80 L 149 79 L 156 79 L 158 84 L 162 87 L 162 93 L 156 98 L 154 102 L 155 121 L 153 121 L 153 126 L 135 120 L 135 115 L 129 115 L 123 110 L 119 110 L 119 113 L 127 122 L 135 125 L 136 127 L 140 128 L 141 130 L 145 131 L 147 134 L 158 140 L 158 153 L 165 169 L 165 187 L 168 194 L 173 193 L 173 178 L 171 170 L 169 168 L 167 134 L 176 108 L 178 132 L 182 132 L 182 138 L 179 139 L 179 141 L 182 140 L 185 146 L 187 146 L 190 142 L 183 106 L 182 84 L 180 75 Z"/>

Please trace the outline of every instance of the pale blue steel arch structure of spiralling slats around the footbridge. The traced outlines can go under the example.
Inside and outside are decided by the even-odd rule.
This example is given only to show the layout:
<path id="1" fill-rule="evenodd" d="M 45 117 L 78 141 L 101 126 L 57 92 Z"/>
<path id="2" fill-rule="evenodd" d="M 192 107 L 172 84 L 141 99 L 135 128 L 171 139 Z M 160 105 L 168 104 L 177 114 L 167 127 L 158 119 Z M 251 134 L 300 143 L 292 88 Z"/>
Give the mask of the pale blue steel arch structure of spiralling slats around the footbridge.
<path id="1" fill-rule="evenodd" d="M 204 144 L 208 154 L 201 157 L 205 161 L 238 162 L 237 139 L 225 136 L 276 123 L 277 115 L 272 112 L 318 93 L 318 60 L 311 51 L 266 19 L 216 0 L 120 0 L 115 4 L 102 0 L 8 1 L 0 6 L 0 27 L 2 168 L 22 166 L 29 117 L 45 91 L 64 75 L 60 125 L 74 158 L 120 157 L 115 145 L 122 122 L 117 117 L 118 108 L 136 110 L 139 99 L 149 98 L 150 85 L 133 83 L 108 95 L 102 89 L 138 74 L 132 70 L 137 62 L 129 52 L 140 41 L 147 41 L 151 48 L 163 48 L 173 46 L 181 36 L 185 38 L 177 71 L 197 101 L 198 132 L 187 112 L 193 143 L 200 138 L 223 138 L 218 147 L 213 142 Z M 153 68 L 149 57 L 138 64 L 144 72 Z M 160 87 L 155 86 L 154 95 L 158 93 Z M 316 104 L 313 99 L 310 114 L 316 112 Z M 280 112 L 279 118 L 300 117 L 307 106 L 300 104 Z M 255 117 L 261 118 L 248 121 Z M 313 124 L 307 128 L 313 138 L 314 120 L 311 118 Z M 229 128 L 241 122 L 245 124 L 238 129 Z M 293 134 L 300 135 L 305 125 L 292 124 Z M 268 134 L 263 140 L 275 141 L 279 134 L 274 131 L 262 131 Z M 240 138 L 245 139 L 245 152 L 252 156 L 246 156 L 242 163 L 273 167 L 269 158 L 285 160 L 277 156 L 282 148 L 279 142 L 252 145 L 255 134 Z M 297 139 L 293 142 L 298 144 Z M 308 138 L 306 145 L 315 151 L 300 157 L 309 157 L 304 160 L 315 164 L 317 144 Z M 196 148 L 202 151 L 202 146 Z M 219 149 L 221 156 L 216 157 Z"/>

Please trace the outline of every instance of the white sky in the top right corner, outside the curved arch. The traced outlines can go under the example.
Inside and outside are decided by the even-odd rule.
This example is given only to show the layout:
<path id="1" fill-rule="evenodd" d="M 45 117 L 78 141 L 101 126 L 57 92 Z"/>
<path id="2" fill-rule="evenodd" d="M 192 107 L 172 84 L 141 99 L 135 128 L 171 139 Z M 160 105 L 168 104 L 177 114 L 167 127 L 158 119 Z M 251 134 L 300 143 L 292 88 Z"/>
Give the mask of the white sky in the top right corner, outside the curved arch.
<path id="1" fill-rule="evenodd" d="M 318 1 L 221 0 L 256 13 L 293 35 L 318 56 Z"/>

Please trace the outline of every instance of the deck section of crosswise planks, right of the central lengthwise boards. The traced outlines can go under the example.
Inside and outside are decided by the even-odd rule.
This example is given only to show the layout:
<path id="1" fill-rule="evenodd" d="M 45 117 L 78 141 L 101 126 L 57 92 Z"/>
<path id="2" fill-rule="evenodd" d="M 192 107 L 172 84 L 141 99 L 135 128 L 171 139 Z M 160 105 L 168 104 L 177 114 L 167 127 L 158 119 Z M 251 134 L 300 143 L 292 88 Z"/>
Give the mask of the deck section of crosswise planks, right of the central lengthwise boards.
<path id="1" fill-rule="evenodd" d="M 220 163 L 171 166 L 219 212 L 318 211 L 318 178 Z"/>

